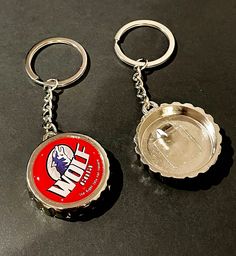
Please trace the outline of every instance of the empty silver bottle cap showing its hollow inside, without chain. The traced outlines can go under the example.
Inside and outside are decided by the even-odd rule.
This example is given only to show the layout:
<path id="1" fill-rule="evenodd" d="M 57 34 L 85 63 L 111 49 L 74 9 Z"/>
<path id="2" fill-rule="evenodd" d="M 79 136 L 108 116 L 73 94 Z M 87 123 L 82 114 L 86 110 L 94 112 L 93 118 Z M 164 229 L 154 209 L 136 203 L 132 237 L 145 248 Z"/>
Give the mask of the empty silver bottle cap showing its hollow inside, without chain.
<path id="1" fill-rule="evenodd" d="M 193 178 L 215 164 L 221 152 L 220 128 L 212 116 L 189 103 L 161 104 L 141 119 L 136 152 L 151 171 Z"/>

